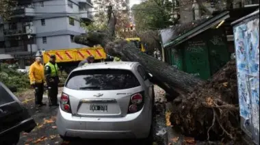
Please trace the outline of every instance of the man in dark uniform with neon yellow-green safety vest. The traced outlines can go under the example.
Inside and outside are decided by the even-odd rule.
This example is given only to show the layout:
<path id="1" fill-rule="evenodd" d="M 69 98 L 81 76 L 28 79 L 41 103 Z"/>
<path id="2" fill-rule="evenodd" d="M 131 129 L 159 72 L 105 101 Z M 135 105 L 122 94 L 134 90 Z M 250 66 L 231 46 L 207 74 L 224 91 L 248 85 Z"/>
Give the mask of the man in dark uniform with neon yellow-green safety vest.
<path id="1" fill-rule="evenodd" d="M 50 106 L 57 106 L 57 93 L 59 77 L 57 74 L 58 67 L 55 55 L 51 55 L 50 61 L 44 66 L 45 79 L 48 86 L 48 98 Z"/>

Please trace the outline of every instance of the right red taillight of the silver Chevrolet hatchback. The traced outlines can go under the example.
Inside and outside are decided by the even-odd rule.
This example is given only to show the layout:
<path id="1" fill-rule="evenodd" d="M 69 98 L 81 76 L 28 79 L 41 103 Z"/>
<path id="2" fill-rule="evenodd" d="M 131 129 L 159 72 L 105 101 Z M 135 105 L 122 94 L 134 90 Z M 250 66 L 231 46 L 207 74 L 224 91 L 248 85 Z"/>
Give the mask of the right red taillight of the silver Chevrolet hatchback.
<path id="1" fill-rule="evenodd" d="M 144 92 L 133 94 L 130 98 L 128 114 L 138 112 L 144 106 Z"/>

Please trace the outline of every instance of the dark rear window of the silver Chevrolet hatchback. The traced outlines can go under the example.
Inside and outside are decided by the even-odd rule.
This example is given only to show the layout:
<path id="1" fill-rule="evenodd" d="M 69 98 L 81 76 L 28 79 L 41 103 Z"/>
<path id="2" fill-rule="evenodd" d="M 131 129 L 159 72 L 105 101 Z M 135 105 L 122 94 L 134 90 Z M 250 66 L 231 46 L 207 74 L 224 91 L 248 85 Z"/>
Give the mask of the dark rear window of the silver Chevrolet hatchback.
<path id="1" fill-rule="evenodd" d="M 129 70 L 99 69 L 71 73 L 66 88 L 73 90 L 123 90 L 140 86 Z"/>

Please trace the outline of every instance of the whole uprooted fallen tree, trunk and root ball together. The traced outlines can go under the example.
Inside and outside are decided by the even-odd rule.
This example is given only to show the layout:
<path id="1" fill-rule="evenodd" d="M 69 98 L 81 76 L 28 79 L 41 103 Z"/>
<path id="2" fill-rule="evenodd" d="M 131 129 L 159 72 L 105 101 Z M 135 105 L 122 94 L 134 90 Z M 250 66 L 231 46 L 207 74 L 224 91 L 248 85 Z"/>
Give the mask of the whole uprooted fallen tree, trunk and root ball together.
<path id="1" fill-rule="evenodd" d="M 226 100 L 226 98 L 231 98 L 232 91 L 237 92 L 236 81 L 231 79 L 236 76 L 233 73 L 235 69 L 226 70 L 225 73 L 219 72 L 215 75 L 216 77 L 213 77 L 213 81 L 209 82 L 177 70 L 155 57 L 142 53 L 133 44 L 116 39 L 113 33 L 116 18 L 111 10 L 109 12 L 111 13 L 108 14 L 110 16 L 109 31 L 91 31 L 88 34 L 75 36 L 75 42 L 90 47 L 101 44 L 109 55 L 119 55 L 123 61 L 140 62 L 146 71 L 153 75 L 153 83 L 168 92 L 172 99 L 175 98 L 176 108 L 172 112 L 171 121 L 172 124 L 178 125 L 185 135 L 202 140 L 220 140 L 222 137 L 237 139 L 238 108 L 233 105 L 236 104 L 235 102 Z M 232 77 L 229 74 L 231 72 Z M 225 78 L 223 74 L 224 76 L 229 74 L 229 77 Z M 219 77 L 222 80 L 218 80 Z M 230 85 L 232 89 L 223 88 L 220 85 Z M 220 90 L 224 91 L 220 92 Z M 222 96 L 225 97 L 222 98 Z M 233 99 L 237 100 L 237 96 L 233 96 Z"/>

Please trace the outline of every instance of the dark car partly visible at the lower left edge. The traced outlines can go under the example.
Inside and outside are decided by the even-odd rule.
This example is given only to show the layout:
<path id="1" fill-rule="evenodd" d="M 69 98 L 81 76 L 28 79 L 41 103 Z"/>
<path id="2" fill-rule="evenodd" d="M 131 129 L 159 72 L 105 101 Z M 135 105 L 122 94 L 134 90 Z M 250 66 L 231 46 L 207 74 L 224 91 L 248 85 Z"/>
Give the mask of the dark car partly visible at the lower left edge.
<path id="1" fill-rule="evenodd" d="M 0 82 L 0 144 L 17 144 L 20 133 L 29 133 L 36 122 L 21 101 Z"/>

